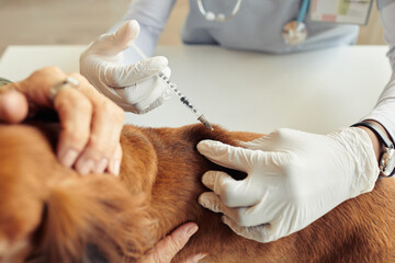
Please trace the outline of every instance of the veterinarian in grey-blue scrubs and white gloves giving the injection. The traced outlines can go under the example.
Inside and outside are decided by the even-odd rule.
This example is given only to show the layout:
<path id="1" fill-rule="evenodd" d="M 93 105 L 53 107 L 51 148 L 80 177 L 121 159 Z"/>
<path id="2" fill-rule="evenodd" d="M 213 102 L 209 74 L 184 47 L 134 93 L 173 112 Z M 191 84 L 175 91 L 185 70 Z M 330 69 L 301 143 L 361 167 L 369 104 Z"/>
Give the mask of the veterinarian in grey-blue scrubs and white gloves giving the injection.
<path id="1" fill-rule="evenodd" d="M 311 5 L 312 12 L 318 12 L 324 1 L 312 1 L 318 4 L 313 9 Z M 140 60 L 128 47 L 139 34 L 137 46 L 153 55 L 173 4 L 174 0 L 132 1 L 124 18 L 128 22 L 100 36 L 80 57 L 81 73 L 125 111 L 143 113 L 168 96 L 166 88 L 153 77 L 160 70 L 170 73 L 167 59 L 158 56 Z M 187 44 L 272 54 L 356 42 L 357 25 L 323 23 L 324 15 L 308 20 L 306 4 L 305 0 L 190 0 L 181 37 Z M 395 69 L 395 0 L 377 0 L 377 4 Z M 369 11 L 359 14 L 361 21 L 368 16 Z M 379 175 L 392 175 L 395 78 L 372 112 L 361 119 L 363 123 L 356 127 L 328 135 L 281 128 L 242 147 L 201 141 L 198 149 L 202 155 L 245 171 L 248 178 L 235 181 L 223 172 L 205 173 L 202 182 L 212 192 L 202 194 L 200 204 L 222 213 L 223 221 L 236 233 L 260 242 L 301 230 L 342 202 L 372 191 Z M 388 156 L 391 162 L 383 156 Z M 383 164 L 379 168 L 380 162 Z"/>

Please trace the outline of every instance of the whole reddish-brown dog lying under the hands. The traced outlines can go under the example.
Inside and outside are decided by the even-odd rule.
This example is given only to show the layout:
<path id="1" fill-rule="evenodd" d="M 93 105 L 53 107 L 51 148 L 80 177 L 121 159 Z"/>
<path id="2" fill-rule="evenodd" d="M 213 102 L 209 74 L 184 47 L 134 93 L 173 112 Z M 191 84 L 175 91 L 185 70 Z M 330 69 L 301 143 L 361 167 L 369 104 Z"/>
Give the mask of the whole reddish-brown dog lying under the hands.
<path id="1" fill-rule="evenodd" d="M 125 126 L 121 180 L 79 176 L 54 155 L 57 127 L 0 125 L 0 262 L 80 262 L 87 248 L 136 262 L 185 221 L 200 230 L 173 262 L 395 262 L 395 181 L 345 202 L 307 228 L 270 243 L 235 235 L 201 207 L 201 176 L 224 170 L 195 149 L 206 138 L 237 145 L 260 135 Z M 227 170 L 236 179 L 245 174 Z"/>

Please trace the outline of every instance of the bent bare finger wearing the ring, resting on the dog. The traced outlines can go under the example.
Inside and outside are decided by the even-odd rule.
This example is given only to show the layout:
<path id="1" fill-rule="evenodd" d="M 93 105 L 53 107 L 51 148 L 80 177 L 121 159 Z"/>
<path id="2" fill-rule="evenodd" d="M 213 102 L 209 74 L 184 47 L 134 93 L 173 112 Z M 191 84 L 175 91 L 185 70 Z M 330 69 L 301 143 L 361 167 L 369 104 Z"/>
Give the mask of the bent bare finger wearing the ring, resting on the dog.
<path id="1" fill-rule="evenodd" d="M 90 101 L 66 81 L 67 76 L 59 68 L 46 67 L 34 71 L 27 79 L 12 83 L 33 106 L 54 108 L 60 119 L 60 135 L 57 147 L 59 162 L 66 167 L 75 163 L 84 148 L 89 134 L 92 106 Z M 54 93 L 54 90 L 56 93 Z"/>

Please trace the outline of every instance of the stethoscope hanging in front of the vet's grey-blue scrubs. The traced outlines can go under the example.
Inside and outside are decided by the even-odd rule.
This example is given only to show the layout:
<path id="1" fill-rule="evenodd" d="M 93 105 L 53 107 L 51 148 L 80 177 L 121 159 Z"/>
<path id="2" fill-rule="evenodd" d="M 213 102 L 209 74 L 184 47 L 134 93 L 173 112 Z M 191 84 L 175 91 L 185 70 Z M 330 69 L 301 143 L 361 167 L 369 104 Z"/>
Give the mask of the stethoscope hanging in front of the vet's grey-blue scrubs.
<path id="1" fill-rule="evenodd" d="M 215 14 L 211 11 L 206 11 L 203 7 L 202 0 L 196 0 L 196 1 L 200 12 L 207 21 L 226 22 L 235 18 L 235 15 L 240 10 L 242 0 L 237 0 L 235 8 L 233 9 L 230 15 L 228 16 L 225 16 L 225 14 L 223 13 Z M 285 44 L 294 46 L 301 44 L 306 39 L 307 28 L 306 28 L 306 24 L 304 23 L 304 20 L 306 18 L 308 3 L 309 0 L 303 0 L 296 20 L 293 20 L 283 26 L 282 36 L 284 38 Z"/>

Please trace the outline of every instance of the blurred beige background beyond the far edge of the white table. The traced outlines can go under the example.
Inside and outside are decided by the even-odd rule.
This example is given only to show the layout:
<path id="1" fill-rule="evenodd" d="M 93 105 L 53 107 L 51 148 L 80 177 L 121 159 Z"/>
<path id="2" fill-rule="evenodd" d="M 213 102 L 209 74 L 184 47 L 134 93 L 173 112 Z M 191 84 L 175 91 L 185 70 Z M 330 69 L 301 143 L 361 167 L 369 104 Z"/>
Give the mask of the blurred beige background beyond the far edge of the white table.
<path id="1" fill-rule="evenodd" d="M 156 0 L 161 1 L 161 0 Z M 8 45 L 89 44 L 119 22 L 129 0 L 0 0 L 0 55 Z M 376 4 L 359 45 L 382 45 Z M 181 45 L 188 0 L 178 0 L 159 45 Z"/>

